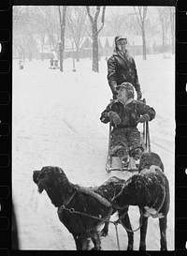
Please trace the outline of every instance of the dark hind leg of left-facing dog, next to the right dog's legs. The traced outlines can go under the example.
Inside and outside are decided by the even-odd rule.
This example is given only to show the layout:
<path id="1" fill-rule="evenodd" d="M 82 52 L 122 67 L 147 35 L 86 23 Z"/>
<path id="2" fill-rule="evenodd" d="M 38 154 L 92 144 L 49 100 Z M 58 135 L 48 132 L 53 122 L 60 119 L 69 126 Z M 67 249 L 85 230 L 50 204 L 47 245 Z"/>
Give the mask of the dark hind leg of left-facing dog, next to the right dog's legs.
<path id="1" fill-rule="evenodd" d="M 126 214 L 125 214 L 126 213 Z M 129 218 L 129 215 L 128 215 L 128 208 L 125 209 L 125 212 L 124 211 L 119 211 L 119 216 L 122 216 L 124 214 L 124 217 L 122 218 L 122 225 L 123 227 L 129 229 L 129 230 L 132 230 L 132 227 L 131 227 L 131 221 L 130 221 L 130 218 Z M 134 233 L 133 232 L 129 232 L 127 231 L 127 235 L 128 235 L 128 247 L 127 247 L 127 250 L 133 250 L 134 248 Z"/>

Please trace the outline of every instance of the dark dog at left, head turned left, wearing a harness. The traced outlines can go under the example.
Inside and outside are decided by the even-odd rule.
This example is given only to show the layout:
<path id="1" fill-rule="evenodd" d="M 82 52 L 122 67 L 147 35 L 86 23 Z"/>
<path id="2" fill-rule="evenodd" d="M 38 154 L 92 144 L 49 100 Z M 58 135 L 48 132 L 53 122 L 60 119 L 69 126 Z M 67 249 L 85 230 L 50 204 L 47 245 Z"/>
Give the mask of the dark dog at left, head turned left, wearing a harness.
<path id="1" fill-rule="evenodd" d="M 61 168 L 52 166 L 34 171 L 33 179 L 39 193 L 45 189 L 51 203 L 58 207 L 58 216 L 67 230 L 73 234 L 76 248 L 88 249 L 88 238 L 91 238 L 94 249 L 100 249 L 97 228 L 115 212 L 109 202 L 122 190 L 124 180 L 113 176 L 97 188 L 82 188 L 70 183 Z M 121 215 L 124 211 L 126 210 L 119 210 Z M 122 223 L 131 229 L 128 215 L 122 218 Z M 133 244 L 133 233 L 128 233 L 128 237 Z"/>

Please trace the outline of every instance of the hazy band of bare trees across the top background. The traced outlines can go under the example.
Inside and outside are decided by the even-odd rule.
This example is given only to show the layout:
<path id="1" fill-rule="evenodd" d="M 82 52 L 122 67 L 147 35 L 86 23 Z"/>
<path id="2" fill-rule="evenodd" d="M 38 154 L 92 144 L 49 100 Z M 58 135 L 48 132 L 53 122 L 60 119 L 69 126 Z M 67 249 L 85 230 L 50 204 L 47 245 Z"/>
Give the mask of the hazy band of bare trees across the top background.
<path id="1" fill-rule="evenodd" d="M 99 72 L 98 35 L 116 36 L 118 34 L 141 35 L 143 59 L 146 60 L 146 44 L 150 38 L 162 38 L 161 52 L 171 44 L 174 54 L 175 8 L 132 7 L 122 9 L 106 6 L 25 6 L 13 7 L 13 42 L 22 46 L 28 59 L 33 58 L 37 41 L 40 41 L 41 59 L 44 48 L 54 48 L 60 54 L 60 70 L 63 71 L 65 38 L 71 38 L 79 61 L 79 46 L 83 37 L 93 41 L 94 72 Z M 108 15 L 107 15 L 108 14 Z M 37 40 L 36 40 L 37 38 Z M 48 41 L 47 41 L 48 40 Z M 156 49 L 155 43 L 155 49 Z"/>

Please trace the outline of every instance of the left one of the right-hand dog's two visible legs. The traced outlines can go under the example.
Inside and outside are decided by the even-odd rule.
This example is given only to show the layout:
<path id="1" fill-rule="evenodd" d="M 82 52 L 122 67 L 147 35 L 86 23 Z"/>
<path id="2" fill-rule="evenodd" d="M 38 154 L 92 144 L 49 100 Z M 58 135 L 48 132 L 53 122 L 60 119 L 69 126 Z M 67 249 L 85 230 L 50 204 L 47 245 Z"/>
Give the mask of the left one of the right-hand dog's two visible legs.
<path id="1" fill-rule="evenodd" d="M 141 223 L 139 250 L 146 250 L 146 233 L 148 227 L 148 218 L 143 215 L 142 210 L 139 209 L 139 212 L 141 215 L 139 218 L 139 223 Z"/>

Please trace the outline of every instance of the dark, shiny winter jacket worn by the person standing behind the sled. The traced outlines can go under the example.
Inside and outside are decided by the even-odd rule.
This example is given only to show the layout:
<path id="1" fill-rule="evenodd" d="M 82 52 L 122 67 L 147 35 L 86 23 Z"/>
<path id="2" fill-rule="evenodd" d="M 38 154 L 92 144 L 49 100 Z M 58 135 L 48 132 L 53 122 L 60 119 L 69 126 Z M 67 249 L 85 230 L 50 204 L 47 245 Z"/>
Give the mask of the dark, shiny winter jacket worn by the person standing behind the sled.
<path id="1" fill-rule="evenodd" d="M 134 58 L 127 51 L 121 53 L 115 49 L 108 59 L 108 84 L 113 95 L 117 95 L 115 88 L 123 82 L 132 83 L 136 91 L 140 91 Z"/>

